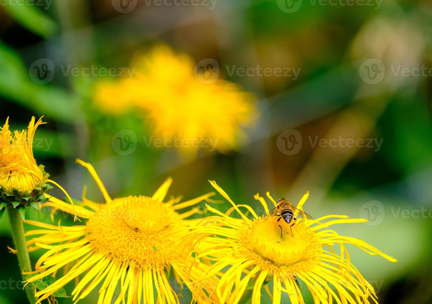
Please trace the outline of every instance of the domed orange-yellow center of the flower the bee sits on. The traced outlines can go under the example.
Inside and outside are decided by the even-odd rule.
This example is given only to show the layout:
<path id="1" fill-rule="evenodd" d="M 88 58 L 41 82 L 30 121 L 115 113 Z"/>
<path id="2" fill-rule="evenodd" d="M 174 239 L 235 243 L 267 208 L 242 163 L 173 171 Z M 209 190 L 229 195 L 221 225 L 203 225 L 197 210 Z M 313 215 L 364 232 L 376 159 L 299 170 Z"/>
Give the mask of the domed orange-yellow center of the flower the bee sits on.
<path id="1" fill-rule="evenodd" d="M 280 227 L 282 226 L 282 236 Z M 259 261 L 262 269 L 270 273 L 293 276 L 299 270 L 310 270 L 321 262 L 322 247 L 319 239 L 305 223 L 292 225 L 277 217 L 258 218 L 239 230 L 241 254 Z"/>

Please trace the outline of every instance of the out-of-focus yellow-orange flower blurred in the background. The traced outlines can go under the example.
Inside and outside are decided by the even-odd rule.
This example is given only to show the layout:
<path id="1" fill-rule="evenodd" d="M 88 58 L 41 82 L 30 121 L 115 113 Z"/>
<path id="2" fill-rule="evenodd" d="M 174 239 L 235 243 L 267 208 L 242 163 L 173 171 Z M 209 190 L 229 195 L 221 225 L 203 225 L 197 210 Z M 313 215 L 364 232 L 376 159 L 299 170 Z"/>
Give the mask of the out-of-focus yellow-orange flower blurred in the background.
<path id="1" fill-rule="evenodd" d="M 257 119 L 251 93 L 222 79 L 210 84 L 198 81 L 194 60 L 167 46 L 138 56 L 132 66 L 136 72 L 131 80 L 98 85 L 96 105 L 111 113 L 138 109 L 153 126 L 155 137 L 178 139 L 177 144 L 169 141 L 170 146 L 197 150 L 200 140 L 208 138 L 209 150 L 226 152 L 245 138 L 242 128 Z"/>

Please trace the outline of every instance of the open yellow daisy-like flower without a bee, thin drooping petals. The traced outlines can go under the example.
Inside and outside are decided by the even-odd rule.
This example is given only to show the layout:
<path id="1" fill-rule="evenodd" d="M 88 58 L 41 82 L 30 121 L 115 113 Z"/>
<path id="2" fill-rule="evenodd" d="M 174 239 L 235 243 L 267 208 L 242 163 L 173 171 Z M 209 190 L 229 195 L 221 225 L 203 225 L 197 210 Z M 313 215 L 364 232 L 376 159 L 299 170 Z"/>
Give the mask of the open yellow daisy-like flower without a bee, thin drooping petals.
<path id="1" fill-rule="evenodd" d="M 121 301 L 136 304 L 142 303 L 142 299 L 144 303 L 154 303 L 155 299 L 158 303 L 178 303 L 172 285 L 180 285 L 181 291 L 183 283 L 194 292 L 194 297 L 206 298 L 199 284 L 200 273 L 206 265 L 197 264 L 191 269 L 185 266 L 194 246 L 193 241 L 184 241 L 189 225 L 194 225 L 185 218 L 197 210 L 184 213 L 178 210 L 194 206 L 213 193 L 182 203 L 176 198 L 164 203 L 172 182 L 167 179 L 152 197 L 111 199 L 93 166 L 81 160 L 77 162 L 92 174 L 106 203 L 90 201 L 83 194 L 83 203 L 76 206 L 76 213 L 88 219 L 85 225 L 66 227 L 28 222 L 44 229 L 27 232 L 27 236 L 33 236 L 27 245 L 31 250 L 44 248 L 48 251 L 36 263 L 39 274 L 26 282 L 56 276 L 60 268 L 65 269 L 55 282 L 36 292 L 38 302 L 78 278 L 72 292 L 73 301 L 86 297 L 99 283 L 102 287 L 98 291 L 98 304 Z M 54 197 L 44 206 L 72 212 L 69 204 Z M 170 279 L 171 274 L 174 279 Z"/>

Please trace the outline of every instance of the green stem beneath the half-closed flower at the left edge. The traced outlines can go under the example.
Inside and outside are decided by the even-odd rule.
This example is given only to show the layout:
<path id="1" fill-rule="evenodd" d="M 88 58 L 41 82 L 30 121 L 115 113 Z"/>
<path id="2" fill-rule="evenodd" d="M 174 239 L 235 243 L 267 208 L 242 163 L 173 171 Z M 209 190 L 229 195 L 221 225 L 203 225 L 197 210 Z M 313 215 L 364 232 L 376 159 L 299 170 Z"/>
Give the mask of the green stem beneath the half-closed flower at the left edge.
<path id="1" fill-rule="evenodd" d="M 10 228 L 12 230 L 13 242 L 15 243 L 16 256 L 18 257 L 19 270 L 32 271 L 32 265 L 30 264 L 29 252 L 25 245 L 24 237 L 24 226 L 22 225 L 23 220 L 19 215 L 18 210 L 12 207 L 8 207 Z M 27 278 L 22 274 L 22 280 L 25 281 Z M 35 288 L 32 283 L 25 286 L 25 293 L 29 299 L 30 304 L 36 303 Z"/>

